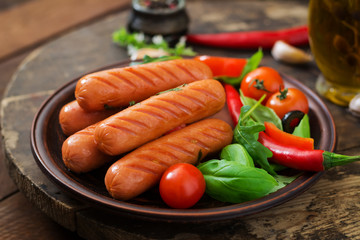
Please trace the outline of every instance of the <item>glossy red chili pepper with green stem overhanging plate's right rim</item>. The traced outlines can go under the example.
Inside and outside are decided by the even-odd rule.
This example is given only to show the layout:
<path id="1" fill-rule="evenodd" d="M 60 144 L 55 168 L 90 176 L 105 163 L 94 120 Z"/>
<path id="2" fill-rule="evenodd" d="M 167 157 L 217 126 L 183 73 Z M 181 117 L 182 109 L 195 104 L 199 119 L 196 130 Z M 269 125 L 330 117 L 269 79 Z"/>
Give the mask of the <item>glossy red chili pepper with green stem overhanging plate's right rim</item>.
<path id="1" fill-rule="evenodd" d="M 258 141 L 273 153 L 271 161 L 303 171 L 319 172 L 360 160 L 360 156 L 345 156 L 324 150 L 303 150 L 287 146 L 264 132 L 259 133 Z"/>

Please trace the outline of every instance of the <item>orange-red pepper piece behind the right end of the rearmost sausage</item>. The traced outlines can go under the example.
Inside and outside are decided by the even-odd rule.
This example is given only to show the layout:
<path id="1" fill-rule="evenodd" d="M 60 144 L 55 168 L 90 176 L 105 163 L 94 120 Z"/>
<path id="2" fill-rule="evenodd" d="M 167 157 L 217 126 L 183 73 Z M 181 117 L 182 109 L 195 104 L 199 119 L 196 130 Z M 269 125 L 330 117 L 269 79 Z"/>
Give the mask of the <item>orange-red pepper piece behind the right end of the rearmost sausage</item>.
<path id="1" fill-rule="evenodd" d="M 239 77 L 247 62 L 245 58 L 215 57 L 207 55 L 197 56 L 194 59 L 208 65 L 213 72 L 214 77 Z"/>

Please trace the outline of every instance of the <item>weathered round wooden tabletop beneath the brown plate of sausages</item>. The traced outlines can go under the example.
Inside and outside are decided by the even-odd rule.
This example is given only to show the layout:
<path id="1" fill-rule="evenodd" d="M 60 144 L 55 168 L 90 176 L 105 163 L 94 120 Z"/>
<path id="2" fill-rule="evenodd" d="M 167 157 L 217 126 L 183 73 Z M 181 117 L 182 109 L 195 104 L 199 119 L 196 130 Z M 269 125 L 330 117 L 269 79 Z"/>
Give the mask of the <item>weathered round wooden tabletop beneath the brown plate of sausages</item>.
<path id="1" fill-rule="evenodd" d="M 192 20 L 191 32 L 278 29 L 307 21 L 307 1 L 194 0 L 187 2 L 187 9 Z M 360 239 L 359 163 L 327 171 L 305 193 L 265 212 L 226 224 L 193 225 L 185 230 L 179 230 L 174 224 L 109 219 L 108 215 L 89 208 L 52 184 L 31 154 L 29 134 L 34 114 L 49 95 L 69 80 L 128 59 L 126 50 L 111 41 L 111 33 L 125 26 L 128 14 L 126 9 L 108 15 L 35 49 L 22 61 L 4 94 L 1 133 L 8 172 L 33 207 L 62 226 L 49 226 L 53 236 L 59 239 Z M 194 46 L 194 50 L 199 54 L 233 57 L 249 57 L 254 52 L 200 46 Z M 267 51 L 262 64 L 291 75 L 312 89 L 319 75 L 315 64 L 301 67 L 281 64 Z M 324 101 L 337 129 L 335 151 L 360 155 L 360 119 L 347 109 Z M 9 181 L 5 178 L 5 185 L 11 184 Z M 1 203 L 1 209 L 11 204 L 26 204 L 13 202 L 11 197 L 2 199 Z M 36 221 L 43 217 L 38 212 L 29 216 L 31 211 L 0 213 L 3 223 L 6 223 L 4 219 L 12 220 L 6 223 L 6 229 L 0 226 L 0 230 L 10 236 L 5 239 L 21 236 L 14 234 L 24 226 L 18 219 L 31 221 L 33 217 Z M 42 232 L 49 233 L 41 222 L 38 224 L 37 229 L 36 226 L 32 229 L 38 234 L 28 230 L 22 235 L 41 239 Z"/>

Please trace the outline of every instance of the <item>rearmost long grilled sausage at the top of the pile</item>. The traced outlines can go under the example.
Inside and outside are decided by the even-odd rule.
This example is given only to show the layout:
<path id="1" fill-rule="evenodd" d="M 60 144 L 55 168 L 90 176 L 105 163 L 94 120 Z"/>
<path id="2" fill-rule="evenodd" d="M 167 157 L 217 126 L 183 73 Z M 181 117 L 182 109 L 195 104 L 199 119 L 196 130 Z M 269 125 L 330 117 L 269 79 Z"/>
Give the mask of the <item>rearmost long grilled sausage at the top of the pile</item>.
<path id="1" fill-rule="evenodd" d="M 76 85 L 75 97 L 87 111 L 123 107 L 158 92 L 212 78 L 210 68 L 191 59 L 154 62 L 88 74 Z"/>

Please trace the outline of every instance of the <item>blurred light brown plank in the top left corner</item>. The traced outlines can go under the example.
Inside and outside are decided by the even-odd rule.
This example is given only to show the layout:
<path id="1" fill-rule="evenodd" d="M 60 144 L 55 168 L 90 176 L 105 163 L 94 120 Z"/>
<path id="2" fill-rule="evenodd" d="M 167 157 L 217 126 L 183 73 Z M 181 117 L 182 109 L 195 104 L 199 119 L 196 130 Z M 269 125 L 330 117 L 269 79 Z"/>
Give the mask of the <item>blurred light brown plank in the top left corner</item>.
<path id="1" fill-rule="evenodd" d="M 0 59 L 128 6 L 129 0 L 32 0 L 0 12 Z M 45 24 L 46 23 L 46 24 Z"/>

